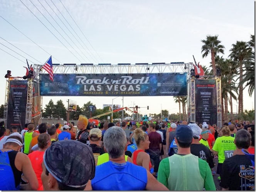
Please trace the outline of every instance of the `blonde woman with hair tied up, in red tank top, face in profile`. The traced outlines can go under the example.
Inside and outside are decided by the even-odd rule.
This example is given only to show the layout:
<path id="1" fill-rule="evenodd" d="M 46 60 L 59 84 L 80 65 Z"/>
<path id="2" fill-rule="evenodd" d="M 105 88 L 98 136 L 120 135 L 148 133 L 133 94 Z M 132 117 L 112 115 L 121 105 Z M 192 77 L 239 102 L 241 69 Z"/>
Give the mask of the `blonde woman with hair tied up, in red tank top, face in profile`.
<path id="1" fill-rule="evenodd" d="M 138 147 L 137 150 L 133 152 L 131 159 L 133 164 L 145 167 L 150 171 L 152 165 L 150 162 L 150 156 L 145 152 L 146 149 L 149 149 L 150 141 L 148 140 L 148 135 L 143 132 L 141 129 L 137 128 L 134 131 L 134 139 Z"/>

